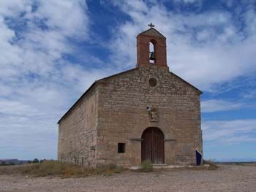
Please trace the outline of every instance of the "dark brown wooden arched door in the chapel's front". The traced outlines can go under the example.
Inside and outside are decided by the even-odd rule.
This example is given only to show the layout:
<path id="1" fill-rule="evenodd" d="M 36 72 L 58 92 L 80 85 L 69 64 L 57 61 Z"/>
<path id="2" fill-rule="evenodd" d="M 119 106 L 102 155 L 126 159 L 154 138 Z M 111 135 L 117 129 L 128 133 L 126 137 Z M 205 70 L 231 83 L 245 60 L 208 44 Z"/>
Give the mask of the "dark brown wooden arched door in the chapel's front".
<path id="1" fill-rule="evenodd" d="M 156 127 L 146 128 L 141 139 L 141 161 L 150 160 L 153 164 L 163 164 L 165 144 L 162 131 Z"/>

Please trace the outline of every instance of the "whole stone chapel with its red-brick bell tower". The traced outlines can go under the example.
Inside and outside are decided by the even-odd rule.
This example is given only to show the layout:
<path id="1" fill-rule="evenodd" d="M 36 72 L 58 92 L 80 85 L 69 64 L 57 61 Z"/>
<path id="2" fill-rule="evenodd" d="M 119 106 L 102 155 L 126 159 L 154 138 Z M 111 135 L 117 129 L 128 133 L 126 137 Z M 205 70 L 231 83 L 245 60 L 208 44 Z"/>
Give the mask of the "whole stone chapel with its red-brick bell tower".
<path id="1" fill-rule="evenodd" d="M 59 120 L 59 161 L 198 164 L 202 92 L 169 71 L 166 38 L 149 26 L 135 68 L 95 81 Z"/>

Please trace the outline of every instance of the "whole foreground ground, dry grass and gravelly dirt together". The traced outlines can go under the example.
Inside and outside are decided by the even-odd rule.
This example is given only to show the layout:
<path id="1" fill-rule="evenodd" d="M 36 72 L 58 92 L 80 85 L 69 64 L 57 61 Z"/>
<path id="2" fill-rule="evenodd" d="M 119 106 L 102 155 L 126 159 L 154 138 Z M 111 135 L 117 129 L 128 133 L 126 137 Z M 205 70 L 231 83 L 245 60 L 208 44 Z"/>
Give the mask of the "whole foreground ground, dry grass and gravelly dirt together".
<path id="1" fill-rule="evenodd" d="M 150 169 L 147 165 L 140 172 L 113 165 L 81 169 L 56 162 L 0 166 L 0 191 L 256 191 L 256 164 L 142 171 Z"/>

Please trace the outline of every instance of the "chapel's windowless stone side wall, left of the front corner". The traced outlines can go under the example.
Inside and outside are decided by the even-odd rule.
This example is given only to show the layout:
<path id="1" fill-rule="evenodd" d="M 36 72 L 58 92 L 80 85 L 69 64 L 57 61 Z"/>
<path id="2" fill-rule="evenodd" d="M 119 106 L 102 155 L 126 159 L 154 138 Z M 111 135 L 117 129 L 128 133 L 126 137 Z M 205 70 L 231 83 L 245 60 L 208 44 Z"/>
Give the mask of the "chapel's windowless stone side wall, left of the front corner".
<path id="1" fill-rule="evenodd" d="M 94 86 L 59 122 L 58 159 L 95 166 L 97 87 Z"/>

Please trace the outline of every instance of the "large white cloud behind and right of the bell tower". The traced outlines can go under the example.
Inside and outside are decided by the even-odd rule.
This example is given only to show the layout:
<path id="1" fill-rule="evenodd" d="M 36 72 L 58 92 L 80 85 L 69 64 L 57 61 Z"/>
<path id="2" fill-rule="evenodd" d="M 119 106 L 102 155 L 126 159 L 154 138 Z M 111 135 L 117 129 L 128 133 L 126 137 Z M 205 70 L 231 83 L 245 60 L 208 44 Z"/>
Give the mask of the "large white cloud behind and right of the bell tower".
<path id="1" fill-rule="evenodd" d="M 131 21 L 117 26 L 111 41 L 112 61 L 117 66 L 135 66 L 136 35 L 152 22 L 167 37 L 170 70 L 201 90 L 214 91 L 220 83 L 256 71 L 256 15 L 252 8 L 239 13 L 246 23 L 241 32 L 227 11 L 183 15 L 161 4 L 147 6 L 140 1 L 138 8 L 126 2 L 117 6 Z"/>

